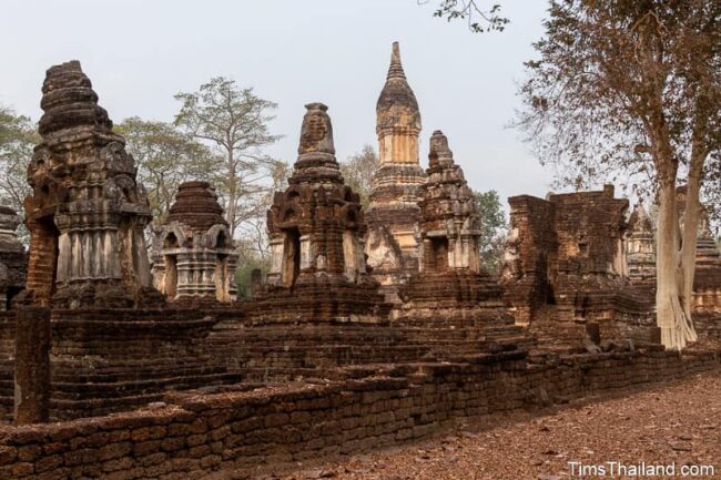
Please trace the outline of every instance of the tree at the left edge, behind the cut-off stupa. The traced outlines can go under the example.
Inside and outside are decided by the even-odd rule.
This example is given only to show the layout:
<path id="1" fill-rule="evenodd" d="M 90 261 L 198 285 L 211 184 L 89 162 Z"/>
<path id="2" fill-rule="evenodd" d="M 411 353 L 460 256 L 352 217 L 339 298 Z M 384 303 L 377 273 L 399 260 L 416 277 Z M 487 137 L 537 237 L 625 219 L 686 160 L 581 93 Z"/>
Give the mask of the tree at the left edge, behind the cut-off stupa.
<path id="1" fill-rule="evenodd" d="M 0 105 L 0 203 L 14 208 L 20 216 L 24 215 L 23 202 L 30 194 L 28 164 L 38 142 L 35 126 L 28 116 Z M 23 226 L 18 236 L 26 245 L 30 241 Z"/>

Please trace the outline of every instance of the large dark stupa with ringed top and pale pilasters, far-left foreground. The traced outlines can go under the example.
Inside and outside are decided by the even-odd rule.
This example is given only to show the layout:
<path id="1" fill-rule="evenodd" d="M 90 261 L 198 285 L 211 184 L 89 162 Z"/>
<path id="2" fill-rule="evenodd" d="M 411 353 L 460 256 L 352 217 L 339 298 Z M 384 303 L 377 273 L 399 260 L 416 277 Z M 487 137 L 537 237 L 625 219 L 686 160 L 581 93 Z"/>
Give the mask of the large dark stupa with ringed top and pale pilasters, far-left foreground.
<path id="1" fill-rule="evenodd" d="M 143 237 L 151 213 L 124 139 L 113 133 L 80 62 L 50 68 L 42 93 L 42 141 L 24 204 L 26 300 L 108 308 L 154 297 Z"/>

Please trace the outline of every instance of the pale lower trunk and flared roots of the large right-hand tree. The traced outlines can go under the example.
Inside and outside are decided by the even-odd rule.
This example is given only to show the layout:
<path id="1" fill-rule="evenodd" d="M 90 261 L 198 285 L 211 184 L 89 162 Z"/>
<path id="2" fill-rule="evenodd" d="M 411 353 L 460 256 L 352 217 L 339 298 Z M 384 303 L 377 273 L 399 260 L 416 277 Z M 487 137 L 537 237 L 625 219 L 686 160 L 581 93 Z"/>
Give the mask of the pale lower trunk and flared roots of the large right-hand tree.
<path id="1" fill-rule="evenodd" d="M 679 219 L 676 207 L 676 184 L 659 182 L 659 224 L 657 231 L 656 318 L 661 329 L 661 343 L 667 348 L 682 349 L 695 340 L 691 319 L 682 305 L 681 253 L 679 252 Z"/>

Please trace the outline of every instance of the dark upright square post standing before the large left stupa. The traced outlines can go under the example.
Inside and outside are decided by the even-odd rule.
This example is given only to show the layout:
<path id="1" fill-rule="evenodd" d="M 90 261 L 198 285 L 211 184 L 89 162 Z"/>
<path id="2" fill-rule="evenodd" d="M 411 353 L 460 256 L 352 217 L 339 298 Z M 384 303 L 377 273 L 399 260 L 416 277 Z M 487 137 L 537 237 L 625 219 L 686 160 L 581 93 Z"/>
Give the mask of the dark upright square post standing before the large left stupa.
<path id="1" fill-rule="evenodd" d="M 16 425 L 47 422 L 50 410 L 50 309 L 23 307 L 16 321 Z"/>

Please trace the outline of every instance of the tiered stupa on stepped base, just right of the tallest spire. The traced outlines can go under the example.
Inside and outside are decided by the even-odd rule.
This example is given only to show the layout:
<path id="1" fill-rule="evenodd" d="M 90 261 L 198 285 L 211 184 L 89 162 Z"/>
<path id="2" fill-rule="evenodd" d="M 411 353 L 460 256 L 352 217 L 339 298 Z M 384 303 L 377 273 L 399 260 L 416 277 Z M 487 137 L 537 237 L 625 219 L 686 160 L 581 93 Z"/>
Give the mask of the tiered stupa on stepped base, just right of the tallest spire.
<path id="1" fill-rule="evenodd" d="M 420 272 L 400 288 L 404 315 L 512 324 L 500 284 L 481 272 L 476 200 L 440 131 L 430 137 L 428 159 L 419 202 Z"/>

